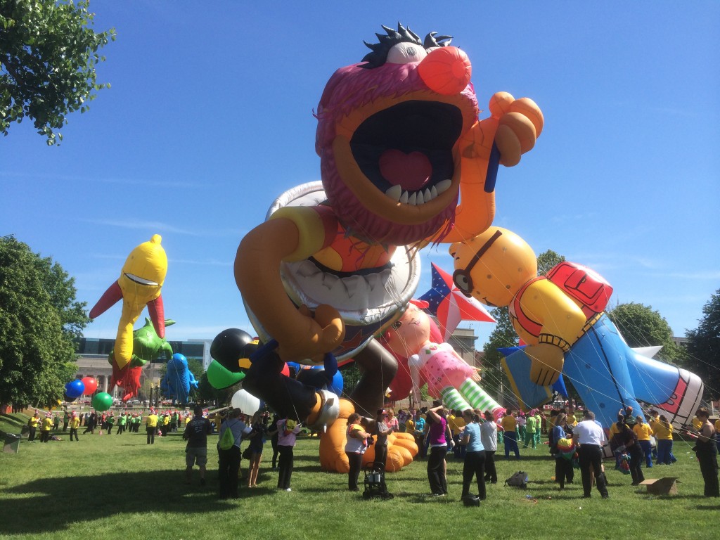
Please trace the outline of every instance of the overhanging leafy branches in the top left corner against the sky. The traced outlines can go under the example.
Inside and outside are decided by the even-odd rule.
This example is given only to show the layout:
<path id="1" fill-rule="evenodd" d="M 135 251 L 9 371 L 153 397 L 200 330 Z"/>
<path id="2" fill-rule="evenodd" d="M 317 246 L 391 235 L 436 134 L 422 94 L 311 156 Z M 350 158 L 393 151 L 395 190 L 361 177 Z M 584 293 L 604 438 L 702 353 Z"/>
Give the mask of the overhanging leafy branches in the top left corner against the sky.
<path id="1" fill-rule="evenodd" d="M 89 0 L 6 0 L 0 2 L 0 132 L 28 117 L 48 145 L 66 116 L 85 112 L 96 91 L 98 50 L 115 30 L 92 30 Z M 56 138 L 57 135 L 57 138 Z"/>

